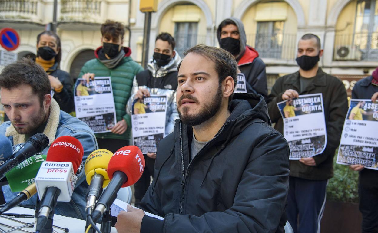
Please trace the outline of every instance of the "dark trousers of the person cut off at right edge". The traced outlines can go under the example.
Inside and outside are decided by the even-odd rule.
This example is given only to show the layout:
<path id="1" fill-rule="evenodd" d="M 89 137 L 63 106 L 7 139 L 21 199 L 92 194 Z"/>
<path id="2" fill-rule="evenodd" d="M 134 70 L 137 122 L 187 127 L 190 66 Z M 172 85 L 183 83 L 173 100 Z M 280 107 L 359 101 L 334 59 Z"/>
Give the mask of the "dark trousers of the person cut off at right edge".
<path id="1" fill-rule="evenodd" d="M 362 232 L 378 233 L 378 171 L 364 168 L 358 176 Z"/>

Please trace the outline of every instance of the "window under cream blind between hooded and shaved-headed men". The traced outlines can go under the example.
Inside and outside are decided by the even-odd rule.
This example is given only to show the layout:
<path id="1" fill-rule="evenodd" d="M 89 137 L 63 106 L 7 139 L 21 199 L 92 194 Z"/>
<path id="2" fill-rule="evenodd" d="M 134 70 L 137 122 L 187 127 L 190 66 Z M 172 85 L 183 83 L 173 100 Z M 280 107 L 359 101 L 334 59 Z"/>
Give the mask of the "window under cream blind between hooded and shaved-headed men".
<path id="1" fill-rule="evenodd" d="M 261 57 L 281 58 L 283 21 L 257 22 L 255 48 Z"/>

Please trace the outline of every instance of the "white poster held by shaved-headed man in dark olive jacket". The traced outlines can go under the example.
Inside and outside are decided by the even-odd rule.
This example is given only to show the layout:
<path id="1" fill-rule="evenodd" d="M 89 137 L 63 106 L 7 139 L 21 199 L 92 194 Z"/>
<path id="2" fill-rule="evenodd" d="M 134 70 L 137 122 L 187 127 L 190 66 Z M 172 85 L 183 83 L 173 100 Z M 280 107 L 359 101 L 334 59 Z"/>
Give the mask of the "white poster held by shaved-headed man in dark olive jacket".
<path id="1" fill-rule="evenodd" d="M 300 95 L 277 103 L 283 119 L 283 136 L 290 148 L 290 159 L 313 157 L 327 145 L 322 93 Z"/>

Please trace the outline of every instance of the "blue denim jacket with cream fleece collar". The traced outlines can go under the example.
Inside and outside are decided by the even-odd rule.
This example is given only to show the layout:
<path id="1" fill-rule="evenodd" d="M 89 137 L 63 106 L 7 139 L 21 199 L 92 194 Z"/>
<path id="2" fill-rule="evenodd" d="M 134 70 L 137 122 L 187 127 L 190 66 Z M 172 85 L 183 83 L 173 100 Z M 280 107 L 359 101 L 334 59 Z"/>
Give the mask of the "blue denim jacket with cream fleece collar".
<path id="1" fill-rule="evenodd" d="M 87 159 L 88 155 L 92 151 L 98 149 L 96 137 L 88 125 L 76 117 L 70 116 L 64 111 L 60 111 L 59 105 L 54 99 L 51 101 L 50 116 L 48 117 L 43 133 L 46 134 L 50 140 L 48 147 L 42 151 L 43 154 L 47 154 L 51 143 L 60 136 L 75 137 L 81 142 L 84 149 L 83 161 Z M 13 145 L 25 142 L 25 135 L 17 133 L 9 121 L 0 125 L 0 134 L 8 137 Z M 83 168 L 83 166 L 81 166 L 81 168 Z M 84 169 L 78 170 L 76 176 L 77 181 L 71 201 L 58 202 L 55 208 L 55 213 L 71 218 L 85 219 L 85 196 L 87 193 L 88 184 L 85 181 Z M 13 193 L 8 185 L 3 187 L 3 193 L 6 202 L 11 201 L 18 194 L 18 192 Z M 37 194 L 31 197 L 29 200 L 22 202 L 20 206 L 34 209 L 36 200 Z"/>

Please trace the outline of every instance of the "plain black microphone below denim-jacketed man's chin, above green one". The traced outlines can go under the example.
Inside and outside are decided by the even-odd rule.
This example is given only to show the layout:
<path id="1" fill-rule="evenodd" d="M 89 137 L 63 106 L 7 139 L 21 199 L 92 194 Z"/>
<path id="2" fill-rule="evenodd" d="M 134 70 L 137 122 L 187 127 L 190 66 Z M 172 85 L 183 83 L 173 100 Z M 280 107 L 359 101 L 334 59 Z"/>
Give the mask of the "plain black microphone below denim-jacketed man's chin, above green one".
<path id="1" fill-rule="evenodd" d="M 0 167 L 0 179 L 3 179 L 5 173 L 12 170 L 15 166 L 20 164 L 25 159 L 33 156 L 44 150 L 49 144 L 48 137 L 43 133 L 37 133 L 34 136 L 29 137 L 29 139 L 22 145 L 20 150 L 12 154 L 11 159 L 8 159 Z"/>

